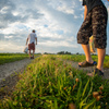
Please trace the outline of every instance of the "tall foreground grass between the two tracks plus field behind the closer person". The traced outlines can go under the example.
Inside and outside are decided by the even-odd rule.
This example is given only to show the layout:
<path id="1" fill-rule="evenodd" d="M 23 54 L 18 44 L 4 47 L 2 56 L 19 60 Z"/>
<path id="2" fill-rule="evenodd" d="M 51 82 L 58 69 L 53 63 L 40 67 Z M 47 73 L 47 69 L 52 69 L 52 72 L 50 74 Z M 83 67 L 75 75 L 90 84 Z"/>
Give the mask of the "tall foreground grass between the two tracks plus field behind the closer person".
<path id="1" fill-rule="evenodd" d="M 97 56 L 93 57 L 97 60 Z M 83 61 L 84 56 L 44 55 L 20 74 L 10 97 L 0 109 L 109 109 L 109 82 L 88 77 L 62 60 Z M 108 60 L 107 60 L 108 59 Z M 105 68 L 108 68 L 106 57 Z M 75 108 L 72 108 L 75 107 Z"/>

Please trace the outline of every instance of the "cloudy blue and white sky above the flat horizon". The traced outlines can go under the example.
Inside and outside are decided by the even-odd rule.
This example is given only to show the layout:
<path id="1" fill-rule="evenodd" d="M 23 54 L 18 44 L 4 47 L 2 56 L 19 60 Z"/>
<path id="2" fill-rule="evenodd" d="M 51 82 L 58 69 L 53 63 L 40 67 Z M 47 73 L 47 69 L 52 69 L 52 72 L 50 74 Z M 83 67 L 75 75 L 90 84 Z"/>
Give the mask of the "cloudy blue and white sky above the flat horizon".
<path id="1" fill-rule="evenodd" d="M 102 0 L 109 14 L 109 2 Z M 84 21 L 82 0 L 0 0 L 0 52 L 23 52 L 26 38 L 36 31 L 36 53 L 84 53 L 76 41 Z M 108 17 L 109 55 L 109 17 Z"/>

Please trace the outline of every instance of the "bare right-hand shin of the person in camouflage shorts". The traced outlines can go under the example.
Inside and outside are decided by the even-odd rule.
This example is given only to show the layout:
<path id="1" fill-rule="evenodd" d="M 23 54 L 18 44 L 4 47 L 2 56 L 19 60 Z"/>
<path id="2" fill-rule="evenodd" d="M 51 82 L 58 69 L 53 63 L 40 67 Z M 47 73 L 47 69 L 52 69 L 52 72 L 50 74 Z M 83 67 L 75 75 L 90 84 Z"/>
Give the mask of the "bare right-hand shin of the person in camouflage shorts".
<path id="1" fill-rule="evenodd" d="M 97 52 L 98 52 L 97 69 L 101 70 L 104 72 L 104 60 L 105 60 L 105 56 L 106 56 L 106 49 L 99 49 L 99 48 L 97 48 Z"/>

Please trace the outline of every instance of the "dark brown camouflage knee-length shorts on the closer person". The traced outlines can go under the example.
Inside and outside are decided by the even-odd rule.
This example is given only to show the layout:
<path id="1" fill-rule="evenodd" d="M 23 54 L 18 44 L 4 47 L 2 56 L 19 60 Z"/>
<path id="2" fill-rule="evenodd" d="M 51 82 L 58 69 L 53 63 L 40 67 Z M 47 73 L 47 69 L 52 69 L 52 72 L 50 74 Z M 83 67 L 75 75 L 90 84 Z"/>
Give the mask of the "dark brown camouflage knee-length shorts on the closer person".
<path id="1" fill-rule="evenodd" d="M 95 48 L 104 49 L 107 46 L 108 13 L 104 5 L 95 7 L 86 16 L 78 33 L 77 43 L 88 45 L 89 37 L 94 36 Z"/>

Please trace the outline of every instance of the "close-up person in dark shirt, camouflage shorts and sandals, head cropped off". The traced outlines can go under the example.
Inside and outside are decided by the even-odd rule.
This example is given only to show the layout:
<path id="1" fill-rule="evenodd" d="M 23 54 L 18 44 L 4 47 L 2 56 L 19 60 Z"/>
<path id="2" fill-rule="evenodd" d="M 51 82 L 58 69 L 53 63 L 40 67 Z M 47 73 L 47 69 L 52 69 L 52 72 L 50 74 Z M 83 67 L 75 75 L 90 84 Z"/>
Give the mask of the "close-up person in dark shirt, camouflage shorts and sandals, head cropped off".
<path id="1" fill-rule="evenodd" d="M 83 5 L 85 7 L 84 22 L 77 33 L 77 43 L 82 45 L 86 61 L 80 62 L 78 66 L 93 66 L 97 64 L 94 72 L 102 76 L 107 47 L 107 9 L 101 0 L 83 0 Z M 94 36 L 95 48 L 97 48 L 98 63 L 93 61 L 89 51 L 88 40 L 92 35 Z M 93 73 L 88 75 L 93 76 Z"/>

